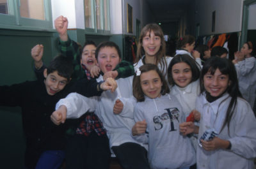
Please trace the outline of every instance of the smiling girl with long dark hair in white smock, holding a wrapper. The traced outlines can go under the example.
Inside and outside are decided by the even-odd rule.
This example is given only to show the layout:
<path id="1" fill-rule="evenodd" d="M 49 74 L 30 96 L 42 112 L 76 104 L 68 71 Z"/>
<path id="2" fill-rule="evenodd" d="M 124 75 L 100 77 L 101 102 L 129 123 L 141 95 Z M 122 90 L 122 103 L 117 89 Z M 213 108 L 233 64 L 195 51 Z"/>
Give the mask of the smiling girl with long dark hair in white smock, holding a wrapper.
<path id="1" fill-rule="evenodd" d="M 211 57 L 200 77 L 199 128 L 193 122 L 180 124 L 180 132 L 198 133 L 197 168 L 254 168 L 256 119 L 239 92 L 236 68 L 231 61 Z"/>

